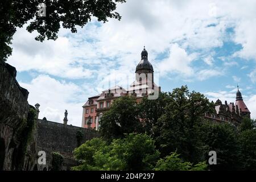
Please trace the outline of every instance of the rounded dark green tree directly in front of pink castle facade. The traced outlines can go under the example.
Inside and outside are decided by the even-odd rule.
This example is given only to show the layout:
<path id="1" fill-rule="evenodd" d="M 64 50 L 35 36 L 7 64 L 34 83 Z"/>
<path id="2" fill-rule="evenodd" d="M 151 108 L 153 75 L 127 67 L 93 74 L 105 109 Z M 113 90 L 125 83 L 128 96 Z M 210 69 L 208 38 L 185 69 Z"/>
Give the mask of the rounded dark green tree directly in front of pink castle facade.
<path id="1" fill-rule="evenodd" d="M 100 133 L 108 140 L 122 138 L 124 134 L 141 133 L 142 123 L 138 117 L 135 97 L 124 96 L 114 100 L 110 109 L 100 120 Z"/>

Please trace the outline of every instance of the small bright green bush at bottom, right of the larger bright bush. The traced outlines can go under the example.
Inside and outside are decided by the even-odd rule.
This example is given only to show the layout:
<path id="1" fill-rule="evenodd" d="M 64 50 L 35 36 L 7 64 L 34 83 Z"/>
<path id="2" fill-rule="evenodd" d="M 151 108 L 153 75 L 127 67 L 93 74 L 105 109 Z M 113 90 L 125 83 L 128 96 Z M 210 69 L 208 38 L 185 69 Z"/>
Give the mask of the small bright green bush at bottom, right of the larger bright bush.
<path id="1" fill-rule="evenodd" d="M 179 154 L 172 152 L 171 155 L 166 156 L 164 159 L 158 160 L 155 170 L 156 171 L 203 171 L 207 169 L 205 162 L 200 162 L 193 166 L 190 162 L 184 162 L 179 158 Z"/>

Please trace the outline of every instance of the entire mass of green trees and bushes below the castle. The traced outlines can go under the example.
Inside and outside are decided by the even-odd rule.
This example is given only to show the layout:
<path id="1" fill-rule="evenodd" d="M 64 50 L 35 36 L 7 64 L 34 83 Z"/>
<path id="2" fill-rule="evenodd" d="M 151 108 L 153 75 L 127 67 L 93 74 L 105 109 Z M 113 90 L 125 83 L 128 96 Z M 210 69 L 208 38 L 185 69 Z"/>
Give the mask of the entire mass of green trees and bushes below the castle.
<path id="1" fill-rule="evenodd" d="M 121 97 L 102 117 L 103 138 L 75 150 L 81 163 L 74 169 L 256 170 L 255 121 L 243 118 L 236 127 L 205 120 L 206 111 L 216 113 L 214 103 L 187 86 L 140 104 Z M 202 162 L 209 151 L 216 151 L 217 165 Z"/>

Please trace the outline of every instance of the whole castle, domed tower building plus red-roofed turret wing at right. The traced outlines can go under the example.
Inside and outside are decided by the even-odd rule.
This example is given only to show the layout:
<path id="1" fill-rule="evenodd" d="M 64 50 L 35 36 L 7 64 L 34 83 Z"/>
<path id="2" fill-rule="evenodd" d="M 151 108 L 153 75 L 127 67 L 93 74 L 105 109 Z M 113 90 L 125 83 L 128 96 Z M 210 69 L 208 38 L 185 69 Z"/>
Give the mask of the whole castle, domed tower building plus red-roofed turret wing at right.
<path id="1" fill-rule="evenodd" d="M 141 61 L 139 61 L 135 70 L 135 81 L 130 85 L 128 90 L 121 86 L 114 86 L 102 91 L 97 96 L 88 98 L 84 104 L 82 111 L 82 126 L 84 128 L 98 130 L 99 121 L 105 111 L 110 109 L 113 101 L 122 96 L 135 96 L 136 101 L 140 102 L 143 97 L 149 94 L 160 92 L 160 86 L 154 82 L 154 69 L 150 61 L 148 61 L 148 53 L 144 47 L 141 52 Z M 242 94 L 238 88 L 236 103 L 222 104 L 220 100 L 215 103 L 214 113 L 205 113 L 204 118 L 215 122 L 230 122 L 239 125 L 243 117 L 250 118 L 250 111 L 243 102 Z"/>

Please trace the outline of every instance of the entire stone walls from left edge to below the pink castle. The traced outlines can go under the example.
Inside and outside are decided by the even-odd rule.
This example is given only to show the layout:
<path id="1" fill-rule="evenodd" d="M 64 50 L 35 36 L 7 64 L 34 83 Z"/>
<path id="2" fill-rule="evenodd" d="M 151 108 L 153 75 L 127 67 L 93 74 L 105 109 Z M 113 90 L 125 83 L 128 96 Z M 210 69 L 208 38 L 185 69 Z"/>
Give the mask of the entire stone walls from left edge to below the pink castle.
<path id="1" fill-rule="evenodd" d="M 75 166 L 72 151 L 99 137 L 97 131 L 36 120 L 36 109 L 28 105 L 27 98 L 28 91 L 16 81 L 16 69 L 0 60 L 0 171 L 48 170 L 51 152 L 64 156 L 61 169 Z M 80 142 L 77 132 L 82 133 Z M 46 152 L 46 165 L 38 165 L 38 151 Z"/>

